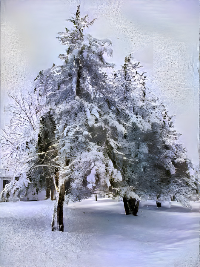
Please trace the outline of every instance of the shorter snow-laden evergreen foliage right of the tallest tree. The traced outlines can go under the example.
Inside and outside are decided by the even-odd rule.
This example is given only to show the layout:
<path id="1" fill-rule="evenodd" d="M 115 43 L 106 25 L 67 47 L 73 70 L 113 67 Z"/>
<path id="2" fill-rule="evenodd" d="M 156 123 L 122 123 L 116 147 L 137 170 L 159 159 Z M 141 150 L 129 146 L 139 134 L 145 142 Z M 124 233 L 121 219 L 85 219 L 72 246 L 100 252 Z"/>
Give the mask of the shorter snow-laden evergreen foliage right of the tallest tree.
<path id="1" fill-rule="evenodd" d="M 145 87 L 145 77 L 138 68 L 130 55 L 115 78 L 122 86 L 115 94 L 124 94 L 124 98 L 117 101 L 113 113 L 127 134 L 125 139 L 118 138 L 119 151 L 126 159 L 111 153 L 112 161 L 121 171 L 127 192 L 134 190 L 141 199 L 157 200 L 158 205 L 162 200 L 176 199 L 190 207 L 189 201 L 198 199 L 197 177 L 190 174 L 194 171 L 192 163 L 178 143 L 179 134 L 173 129 L 167 107 Z"/>

